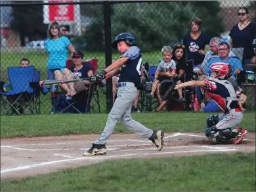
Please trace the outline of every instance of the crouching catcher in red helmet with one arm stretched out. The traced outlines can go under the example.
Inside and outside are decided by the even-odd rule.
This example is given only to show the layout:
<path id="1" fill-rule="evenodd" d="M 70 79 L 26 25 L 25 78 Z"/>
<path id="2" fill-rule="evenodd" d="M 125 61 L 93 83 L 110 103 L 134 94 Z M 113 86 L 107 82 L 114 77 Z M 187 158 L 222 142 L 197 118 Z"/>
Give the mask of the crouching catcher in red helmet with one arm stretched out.
<path id="1" fill-rule="evenodd" d="M 212 77 L 202 81 L 189 81 L 176 85 L 175 89 L 204 86 L 211 99 L 219 104 L 223 113 L 209 116 L 206 120 L 207 129 L 205 136 L 213 142 L 223 142 L 233 140 L 234 144 L 239 144 L 247 134 L 247 130 L 236 128 L 243 119 L 245 108 L 243 104 L 247 100 L 246 95 L 238 86 L 236 80 L 230 78 L 231 66 L 226 63 L 213 63 L 210 67 Z"/>

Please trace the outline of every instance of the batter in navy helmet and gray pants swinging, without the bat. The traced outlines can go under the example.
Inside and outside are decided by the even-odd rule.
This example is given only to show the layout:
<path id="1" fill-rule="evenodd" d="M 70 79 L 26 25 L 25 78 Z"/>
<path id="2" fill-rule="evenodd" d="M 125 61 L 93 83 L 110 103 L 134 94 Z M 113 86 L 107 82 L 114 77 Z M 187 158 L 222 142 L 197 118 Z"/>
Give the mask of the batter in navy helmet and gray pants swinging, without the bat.
<path id="1" fill-rule="evenodd" d="M 120 52 L 120 59 L 114 61 L 114 63 L 92 78 L 98 81 L 120 74 L 117 99 L 108 115 L 108 121 L 106 122 L 104 131 L 100 135 L 100 138 L 93 142 L 93 146 L 87 152 L 83 153 L 85 156 L 103 155 L 106 153 L 106 142 L 108 138 L 110 138 L 119 120 L 121 120 L 123 125 L 131 130 L 131 132 L 152 140 L 159 151 L 163 148 L 163 131 L 148 129 L 131 118 L 131 106 L 135 100 L 138 89 L 141 87 L 140 68 L 142 65 L 142 57 L 140 49 L 136 44 L 135 38 L 129 33 L 117 35 L 112 43 L 112 47 Z"/>

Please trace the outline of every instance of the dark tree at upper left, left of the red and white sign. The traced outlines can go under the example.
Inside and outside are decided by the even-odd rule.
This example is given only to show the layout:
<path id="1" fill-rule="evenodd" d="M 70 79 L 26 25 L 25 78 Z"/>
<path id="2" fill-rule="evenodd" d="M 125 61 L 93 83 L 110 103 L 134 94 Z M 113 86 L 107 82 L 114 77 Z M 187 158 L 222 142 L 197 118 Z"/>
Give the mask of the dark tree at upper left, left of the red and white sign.
<path id="1" fill-rule="evenodd" d="M 25 37 L 38 40 L 47 37 L 47 25 L 43 24 L 43 6 L 30 5 L 39 1 L 14 1 L 15 3 L 28 3 L 24 6 L 13 6 L 11 29 L 20 33 L 21 46 L 25 46 Z"/>

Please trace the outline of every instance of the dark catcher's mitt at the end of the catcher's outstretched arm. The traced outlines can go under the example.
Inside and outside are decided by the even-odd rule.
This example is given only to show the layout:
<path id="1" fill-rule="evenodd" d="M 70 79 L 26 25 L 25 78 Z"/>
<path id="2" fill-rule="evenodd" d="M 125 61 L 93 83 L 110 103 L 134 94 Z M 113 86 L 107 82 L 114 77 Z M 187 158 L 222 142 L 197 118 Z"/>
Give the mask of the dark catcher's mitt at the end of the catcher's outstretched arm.
<path id="1" fill-rule="evenodd" d="M 163 80 L 160 83 L 160 96 L 163 101 L 170 99 L 171 94 L 175 88 L 175 82 L 173 80 Z"/>

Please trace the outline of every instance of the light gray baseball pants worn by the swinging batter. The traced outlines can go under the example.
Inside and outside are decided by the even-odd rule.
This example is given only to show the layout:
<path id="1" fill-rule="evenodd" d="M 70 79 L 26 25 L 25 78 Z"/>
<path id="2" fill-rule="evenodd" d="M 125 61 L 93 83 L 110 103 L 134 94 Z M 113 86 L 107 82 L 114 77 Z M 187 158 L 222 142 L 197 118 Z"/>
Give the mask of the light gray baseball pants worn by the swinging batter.
<path id="1" fill-rule="evenodd" d="M 121 120 L 127 129 L 136 135 L 142 136 L 142 138 L 150 138 L 154 133 L 152 129 L 146 128 L 144 125 L 131 118 L 131 107 L 138 89 L 131 82 L 121 82 L 120 84 L 121 87 L 117 90 L 117 99 L 110 114 L 108 114 L 108 121 L 106 122 L 104 131 L 100 135 L 100 138 L 95 140 L 95 144 L 106 144 L 119 120 Z"/>

